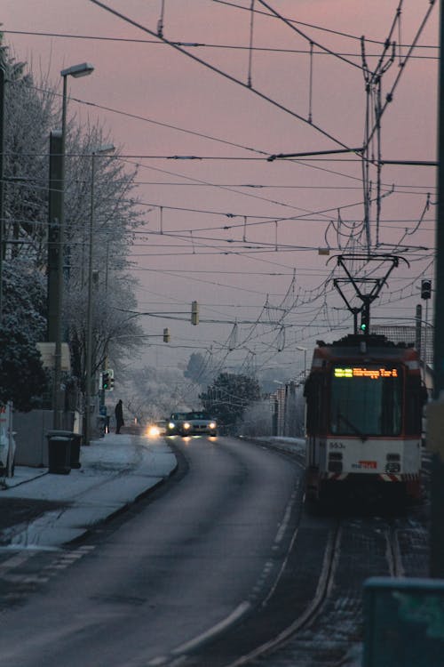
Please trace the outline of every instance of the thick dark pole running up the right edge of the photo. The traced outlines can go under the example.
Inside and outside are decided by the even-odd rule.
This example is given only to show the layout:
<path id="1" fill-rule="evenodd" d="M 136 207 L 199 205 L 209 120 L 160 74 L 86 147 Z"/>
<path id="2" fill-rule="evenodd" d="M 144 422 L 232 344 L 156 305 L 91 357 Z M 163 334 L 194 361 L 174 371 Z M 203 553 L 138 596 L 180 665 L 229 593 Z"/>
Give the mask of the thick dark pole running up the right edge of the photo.
<path id="1" fill-rule="evenodd" d="M 433 398 L 442 399 L 444 390 L 444 0 L 440 0 L 440 74 L 438 95 L 438 213 L 436 221 L 436 269 L 433 329 Z M 424 355 L 425 357 L 425 355 Z M 444 404 L 442 406 L 444 409 Z M 428 420 L 430 422 L 430 420 Z M 428 430 L 433 424 L 428 423 Z M 444 576 L 444 443 L 432 454 L 432 490 L 430 517 L 430 575 Z"/>

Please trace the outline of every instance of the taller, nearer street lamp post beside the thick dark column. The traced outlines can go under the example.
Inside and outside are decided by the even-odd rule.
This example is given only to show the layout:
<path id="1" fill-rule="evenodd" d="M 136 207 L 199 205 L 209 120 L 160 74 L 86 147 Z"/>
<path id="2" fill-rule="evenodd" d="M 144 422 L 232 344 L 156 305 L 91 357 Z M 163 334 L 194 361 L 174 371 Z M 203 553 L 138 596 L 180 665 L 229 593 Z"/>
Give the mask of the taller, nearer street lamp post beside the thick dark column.
<path id="1" fill-rule="evenodd" d="M 61 378 L 61 342 L 62 342 L 62 301 L 63 301 L 63 263 L 65 254 L 64 235 L 65 235 L 65 146 L 67 135 L 67 77 L 88 76 L 93 71 L 93 67 L 88 62 L 80 65 L 73 65 L 70 68 L 62 69 L 60 76 L 63 78 L 63 95 L 61 107 L 61 169 L 60 169 L 60 211 L 59 211 L 59 254 L 58 254 L 58 273 L 57 273 L 57 325 L 55 335 L 54 352 L 54 398 L 53 398 L 53 426 L 54 429 L 61 427 L 61 405 L 60 405 L 60 378 Z"/>

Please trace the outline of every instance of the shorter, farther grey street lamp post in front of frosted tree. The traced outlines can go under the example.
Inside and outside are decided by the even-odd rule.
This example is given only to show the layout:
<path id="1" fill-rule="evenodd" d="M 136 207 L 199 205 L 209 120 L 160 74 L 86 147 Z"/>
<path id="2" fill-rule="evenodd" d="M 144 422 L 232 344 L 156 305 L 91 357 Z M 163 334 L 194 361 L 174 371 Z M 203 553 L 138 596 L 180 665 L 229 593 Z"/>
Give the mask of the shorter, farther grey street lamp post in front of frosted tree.
<path id="1" fill-rule="evenodd" d="M 94 239 L 94 179 L 96 157 L 111 153 L 113 144 L 105 144 L 91 153 L 91 210 L 90 210 L 90 253 L 88 261 L 88 307 L 86 313 L 86 364 L 85 364 L 85 411 L 84 411 L 84 444 L 90 444 L 91 438 L 91 382 L 92 382 L 92 260 Z"/>

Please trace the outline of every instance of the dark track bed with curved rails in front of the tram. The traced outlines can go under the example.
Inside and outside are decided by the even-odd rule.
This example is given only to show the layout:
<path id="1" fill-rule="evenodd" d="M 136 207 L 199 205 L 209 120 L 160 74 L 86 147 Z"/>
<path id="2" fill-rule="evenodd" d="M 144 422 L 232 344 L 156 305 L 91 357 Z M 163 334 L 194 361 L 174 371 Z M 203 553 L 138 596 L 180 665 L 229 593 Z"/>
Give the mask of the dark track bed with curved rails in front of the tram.
<path id="1" fill-rule="evenodd" d="M 263 440 L 257 444 L 291 457 L 301 468 L 305 466 L 304 455 L 298 446 Z M 360 516 L 357 512 L 345 512 L 345 515 L 339 516 L 331 516 L 330 512 L 330 516 L 313 516 L 305 511 L 302 496 L 301 493 L 300 515 L 291 545 L 297 556 L 289 556 L 286 564 L 290 579 L 294 577 L 297 583 L 301 583 L 297 567 L 307 570 L 311 558 L 309 549 L 313 549 L 313 543 L 309 543 L 310 531 L 316 535 L 322 531 L 328 533 L 322 542 L 323 558 L 311 598 L 302 600 L 306 593 L 302 591 L 301 599 L 295 606 L 297 611 L 295 608 L 290 620 L 287 614 L 289 622 L 281 624 L 274 636 L 268 635 L 262 642 L 256 637 L 255 645 L 245 649 L 240 639 L 242 632 L 253 632 L 257 618 L 267 614 L 271 618 L 279 609 L 282 587 L 276 583 L 262 602 L 252 606 L 248 615 L 234 627 L 226 629 L 214 644 L 211 641 L 195 653 L 181 655 L 171 665 L 241 667 L 269 664 L 281 667 L 281 664 L 297 664 L 298 667 L 321 667 L 329 664 L 329 667 L 344 667 L 350 664 L 349 651 L 361 642 L 361 591 L 365 579 L 374 575 L 424 576 L 427 560 L 424 517 L 417 518 L 414 514 L 391 516 L 390 512 L 389 516 Z M 412 543 L 416 545 L 415 558 L 409 552 Z M 280 576 L 285 581 L 285 573 Z M 264 618 L 259 625 L 266 625 Z M 332 640 L 331 646 L 319 646 L 317 638 L 333 637 L 338 629 L 341 636 L 336 645 Z"/>

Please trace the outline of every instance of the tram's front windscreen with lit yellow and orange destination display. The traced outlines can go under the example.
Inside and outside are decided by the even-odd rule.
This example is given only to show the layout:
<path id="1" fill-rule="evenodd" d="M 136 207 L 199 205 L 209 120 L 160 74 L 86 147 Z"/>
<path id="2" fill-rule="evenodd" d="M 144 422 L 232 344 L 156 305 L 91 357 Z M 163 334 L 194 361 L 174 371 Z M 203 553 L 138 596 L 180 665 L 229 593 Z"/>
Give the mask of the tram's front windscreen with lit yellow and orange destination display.
<path id="1" fill-rule="evenodd" d="M 334 435 L 397 436 L 401 428 L 400 368 L 335 366 L 330 393 Z"/>

